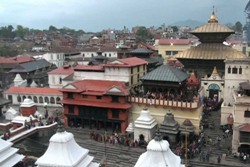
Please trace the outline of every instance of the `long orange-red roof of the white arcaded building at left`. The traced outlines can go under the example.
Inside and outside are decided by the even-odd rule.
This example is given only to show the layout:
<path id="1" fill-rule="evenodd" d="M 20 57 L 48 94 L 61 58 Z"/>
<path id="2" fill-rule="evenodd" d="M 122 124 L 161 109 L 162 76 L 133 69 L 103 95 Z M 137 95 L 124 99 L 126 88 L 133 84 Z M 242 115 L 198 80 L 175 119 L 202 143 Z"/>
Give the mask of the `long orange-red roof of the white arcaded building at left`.
<path id="1" fill-rule="evenodd" d="M 62 92 L 56 88 L 31 88 L 31 87 L 10 87 L 5 93 L 26 94 L 26 95 L 58 95 Z"/>

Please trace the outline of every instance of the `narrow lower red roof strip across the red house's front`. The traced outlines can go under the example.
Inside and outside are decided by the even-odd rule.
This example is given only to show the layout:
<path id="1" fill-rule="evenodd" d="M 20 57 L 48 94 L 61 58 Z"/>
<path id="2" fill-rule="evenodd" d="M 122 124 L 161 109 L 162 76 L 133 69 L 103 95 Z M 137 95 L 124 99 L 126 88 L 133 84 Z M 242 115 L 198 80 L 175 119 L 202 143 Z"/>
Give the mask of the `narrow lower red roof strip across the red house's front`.
<path id="1" fill-rule="evenodd" d="M 131 104 L 129 103 L 105 103 L 97 101 L 84 101 L 75 99 L 64 99 L 61 101 L 63 104 L 71 105 L 82 105 L 82 106 L 92 106 L 92 107 L 102 107 L 102 108 L 114 108 L 114 109 L 129 109 Z"/>

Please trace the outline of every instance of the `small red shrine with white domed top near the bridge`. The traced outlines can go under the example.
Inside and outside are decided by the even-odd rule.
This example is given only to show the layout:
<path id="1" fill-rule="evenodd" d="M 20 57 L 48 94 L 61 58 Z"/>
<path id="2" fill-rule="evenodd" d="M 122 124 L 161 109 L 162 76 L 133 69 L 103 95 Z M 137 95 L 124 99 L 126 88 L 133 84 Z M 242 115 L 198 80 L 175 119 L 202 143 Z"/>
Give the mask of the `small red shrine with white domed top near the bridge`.
<path id="1" fill-rule="evenodd" d="M 22 116 L 29 117 L 36 113 L 36 104 L 33 100 L 26 98 L 20 105 L 20 112 Z"/>

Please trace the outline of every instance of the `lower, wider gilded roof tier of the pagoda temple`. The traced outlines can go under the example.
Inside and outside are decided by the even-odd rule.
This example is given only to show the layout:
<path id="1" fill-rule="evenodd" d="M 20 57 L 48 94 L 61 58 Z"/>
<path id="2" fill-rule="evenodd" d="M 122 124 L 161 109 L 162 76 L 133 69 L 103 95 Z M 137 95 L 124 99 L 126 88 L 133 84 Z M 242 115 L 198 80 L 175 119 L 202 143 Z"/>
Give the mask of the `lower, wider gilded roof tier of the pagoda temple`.
<path id="1" fill-rule="evenodd" d="M 175 57 L 177 59 L 224 60 L 227 58 L 246 58 L 247 56 L 222 43 L 201 43 L 196 47 L 176 54 Z"/>

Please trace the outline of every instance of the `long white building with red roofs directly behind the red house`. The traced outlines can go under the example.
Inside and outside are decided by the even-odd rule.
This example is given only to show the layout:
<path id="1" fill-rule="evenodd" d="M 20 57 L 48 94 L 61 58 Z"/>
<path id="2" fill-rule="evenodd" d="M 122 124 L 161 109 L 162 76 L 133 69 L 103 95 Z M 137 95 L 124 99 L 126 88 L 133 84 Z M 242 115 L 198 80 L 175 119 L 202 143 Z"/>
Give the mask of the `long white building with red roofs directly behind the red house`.
<path id="1" fill-rule="evenodd" d="M 65 67 L 48 73 L 51 88 L 62 88 L 66 84 L 84 79 L 122 81 L 128 83 L 128 86 L 137 86 L 140 78 L 147 72 L 147 61 L 130 57 L 98 66 Z"/>

